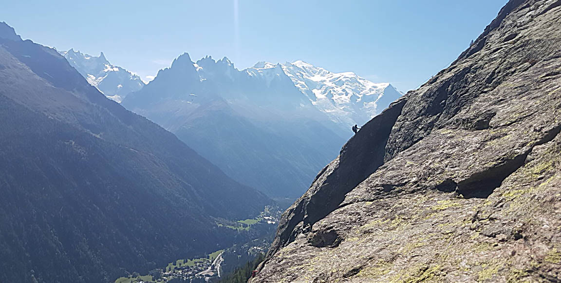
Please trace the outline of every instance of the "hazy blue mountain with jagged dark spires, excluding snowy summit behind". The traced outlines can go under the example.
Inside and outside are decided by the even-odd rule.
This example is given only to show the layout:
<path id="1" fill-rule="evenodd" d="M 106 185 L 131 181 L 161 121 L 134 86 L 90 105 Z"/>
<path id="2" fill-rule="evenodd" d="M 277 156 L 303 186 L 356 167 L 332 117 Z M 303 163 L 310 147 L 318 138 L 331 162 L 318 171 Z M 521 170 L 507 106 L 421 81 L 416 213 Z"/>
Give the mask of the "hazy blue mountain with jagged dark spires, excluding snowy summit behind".
<path id="1" fill-rule="evenodd" d="M 122 105 L 172 131 L 234 180 L 278 198 L 301 195 L 349 131 L 288 76 L 251 76 L 227 58 L 193 63 L 183 54 Z"/>

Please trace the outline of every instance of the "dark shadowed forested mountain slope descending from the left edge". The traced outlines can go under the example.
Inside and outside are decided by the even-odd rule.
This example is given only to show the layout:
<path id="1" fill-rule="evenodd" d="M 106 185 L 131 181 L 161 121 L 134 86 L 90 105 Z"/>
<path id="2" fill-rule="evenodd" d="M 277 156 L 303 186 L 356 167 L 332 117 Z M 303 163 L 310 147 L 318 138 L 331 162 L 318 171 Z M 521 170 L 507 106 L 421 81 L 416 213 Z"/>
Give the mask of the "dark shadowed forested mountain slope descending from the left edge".
<path id="1" fill-rule="evenodd" d="M 113 282 L 250 234 L 270 204 L 0 24 L 0 282 Z"/>

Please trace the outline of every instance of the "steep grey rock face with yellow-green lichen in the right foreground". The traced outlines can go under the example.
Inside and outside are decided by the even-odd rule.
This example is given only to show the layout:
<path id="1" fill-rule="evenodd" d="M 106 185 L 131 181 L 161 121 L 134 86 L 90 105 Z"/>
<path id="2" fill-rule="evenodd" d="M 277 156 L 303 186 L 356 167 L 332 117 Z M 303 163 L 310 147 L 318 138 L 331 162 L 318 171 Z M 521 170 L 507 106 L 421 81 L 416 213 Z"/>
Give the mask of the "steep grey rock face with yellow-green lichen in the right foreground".
<path id="1" fill-rule="evenodd" d="M 509 1 L 344 145 L 251 282 L 561 282 L 560 18 Z"/>

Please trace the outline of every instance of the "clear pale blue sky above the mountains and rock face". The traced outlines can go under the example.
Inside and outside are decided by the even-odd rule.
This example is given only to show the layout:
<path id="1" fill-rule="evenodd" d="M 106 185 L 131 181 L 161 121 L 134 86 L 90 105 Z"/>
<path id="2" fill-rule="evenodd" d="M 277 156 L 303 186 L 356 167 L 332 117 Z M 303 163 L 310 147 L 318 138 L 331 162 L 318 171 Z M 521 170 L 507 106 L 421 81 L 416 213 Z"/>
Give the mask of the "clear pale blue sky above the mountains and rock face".
<path id="1" fill-rule="evenodd" d="M 407 91 L 467 48 L 507 0 L 7 1 L 24 39 L 105 53 L 143 79 L 188 52 L 237 68 L 304 60 Z"/>

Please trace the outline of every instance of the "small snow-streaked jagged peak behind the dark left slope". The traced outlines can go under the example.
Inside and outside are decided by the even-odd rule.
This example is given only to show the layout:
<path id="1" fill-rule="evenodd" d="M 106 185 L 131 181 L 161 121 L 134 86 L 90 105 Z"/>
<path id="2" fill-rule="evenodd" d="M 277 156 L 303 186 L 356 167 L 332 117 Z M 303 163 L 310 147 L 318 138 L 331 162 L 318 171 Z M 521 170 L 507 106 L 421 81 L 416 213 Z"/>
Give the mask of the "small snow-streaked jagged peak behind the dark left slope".
<path id="1" fill-rule="evenodd" d="M 74 49 L 63 51 L 61 54 L 88 83 L 114 101 L 121 102 L 128 93 L 138 91 L 144 86 L 144 82 L 136 74 L 109 63 L 103 52 L 97 57 Z"/>

